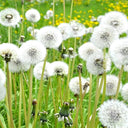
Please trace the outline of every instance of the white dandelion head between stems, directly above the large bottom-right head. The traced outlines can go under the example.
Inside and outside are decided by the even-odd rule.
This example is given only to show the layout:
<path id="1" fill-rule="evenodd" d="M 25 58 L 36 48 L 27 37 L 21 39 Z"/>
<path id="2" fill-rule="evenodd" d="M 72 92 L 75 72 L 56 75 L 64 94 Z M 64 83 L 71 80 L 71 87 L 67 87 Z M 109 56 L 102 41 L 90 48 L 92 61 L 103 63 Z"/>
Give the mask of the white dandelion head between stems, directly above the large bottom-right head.
<path id="1" fill-rule="evenodd" d="M 106 76 L 106 95 L 107 96 L 115 95 L 117 91 L 117 85 L 118 85 L 118 77 L 115 75 L 107 75 Z M 120 84 L 120 89 L 121 87 L 122 87 L 122 84 Z M 104 86 L 102 86 L 101 93 L 103 93 L 103 88 Z"/>

